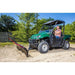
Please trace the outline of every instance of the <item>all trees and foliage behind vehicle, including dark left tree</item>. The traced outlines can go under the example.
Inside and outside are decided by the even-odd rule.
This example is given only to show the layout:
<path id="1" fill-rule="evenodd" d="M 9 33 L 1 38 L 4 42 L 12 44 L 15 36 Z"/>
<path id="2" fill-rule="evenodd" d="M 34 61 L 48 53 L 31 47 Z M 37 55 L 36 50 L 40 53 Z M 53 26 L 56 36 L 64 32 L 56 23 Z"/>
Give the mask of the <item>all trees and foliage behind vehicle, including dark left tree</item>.
<path id="1" fill-rule="evenodd" d="M 33 34 L 37 34 L 43 23 L 54 20 L 49 17 L 47 19 L 38 19 L 38 13 L 21 13 L 18 15 L 19 21 L 7 15 L 0 17 L 0 32 L 12 32 L 12 36 L 16 41 L 28 42 Z M 65 25 L 65 34 L 71 35 L 71 41 L 75 41 L 75 21 Z"/>

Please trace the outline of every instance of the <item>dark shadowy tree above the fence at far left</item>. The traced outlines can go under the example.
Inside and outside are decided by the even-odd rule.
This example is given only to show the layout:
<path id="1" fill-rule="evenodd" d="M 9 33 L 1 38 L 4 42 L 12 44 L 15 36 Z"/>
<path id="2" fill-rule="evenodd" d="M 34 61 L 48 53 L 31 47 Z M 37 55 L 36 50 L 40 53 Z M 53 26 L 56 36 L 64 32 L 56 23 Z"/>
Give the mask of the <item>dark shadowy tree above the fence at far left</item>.
<path id="1" fill-rule="evenodd" d="M 15 19 L 11 16 L 1 15 L 0 17 L 0 32 L 8 32 L 15 30 Z"/>

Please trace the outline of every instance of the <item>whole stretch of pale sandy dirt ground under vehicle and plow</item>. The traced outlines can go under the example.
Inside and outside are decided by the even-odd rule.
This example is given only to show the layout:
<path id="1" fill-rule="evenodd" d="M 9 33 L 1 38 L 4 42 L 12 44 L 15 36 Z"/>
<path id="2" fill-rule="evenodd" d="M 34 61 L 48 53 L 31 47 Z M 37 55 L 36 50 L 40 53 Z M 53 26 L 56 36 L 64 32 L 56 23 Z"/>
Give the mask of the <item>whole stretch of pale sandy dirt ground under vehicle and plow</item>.
<path id="1" fill-rule="evenodd" d="M 45 54 L 30 50 L 29 55 L 27 58 L 15 45 L 0 47 L 0 62 L 75 62 L 75 44 L 69 50 L 52 49 Z"/>

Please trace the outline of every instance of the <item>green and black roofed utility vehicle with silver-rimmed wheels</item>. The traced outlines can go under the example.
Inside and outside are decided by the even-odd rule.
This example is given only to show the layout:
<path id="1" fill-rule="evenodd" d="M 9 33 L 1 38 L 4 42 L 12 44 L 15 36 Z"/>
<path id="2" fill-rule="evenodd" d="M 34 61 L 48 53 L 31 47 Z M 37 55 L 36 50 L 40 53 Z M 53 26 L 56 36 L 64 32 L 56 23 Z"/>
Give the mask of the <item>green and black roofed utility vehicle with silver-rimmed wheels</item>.
<path id="1" fill-rule="evenodd" d="M 62 30 L 60 39 L 54 35 L 55 28 L 59 26 Z M 49 49 L 60 47 L 69 49 L 70 35 L 64 34 L 65 22 L 61 20 L 54 20 L 44 23 L 38 34 L 34 34 L 29 38 L 29 50 L 38 49 L 40 53 L 47 53 Z"/>

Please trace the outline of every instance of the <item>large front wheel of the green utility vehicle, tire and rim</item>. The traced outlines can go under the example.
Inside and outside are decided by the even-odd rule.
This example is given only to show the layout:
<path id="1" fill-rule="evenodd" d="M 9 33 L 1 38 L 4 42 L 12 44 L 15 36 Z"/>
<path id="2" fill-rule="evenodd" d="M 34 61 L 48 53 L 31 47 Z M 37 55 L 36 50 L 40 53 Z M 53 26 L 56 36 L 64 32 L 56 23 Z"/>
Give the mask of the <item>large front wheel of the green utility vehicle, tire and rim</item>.
<path id="1" fill-rule="evenodd" d="M 49 50 L 49 45 L 46 41 L 41 41 L 38 45 L 38 51 L 40 53 L 47 53 Z"/>

